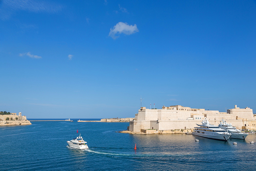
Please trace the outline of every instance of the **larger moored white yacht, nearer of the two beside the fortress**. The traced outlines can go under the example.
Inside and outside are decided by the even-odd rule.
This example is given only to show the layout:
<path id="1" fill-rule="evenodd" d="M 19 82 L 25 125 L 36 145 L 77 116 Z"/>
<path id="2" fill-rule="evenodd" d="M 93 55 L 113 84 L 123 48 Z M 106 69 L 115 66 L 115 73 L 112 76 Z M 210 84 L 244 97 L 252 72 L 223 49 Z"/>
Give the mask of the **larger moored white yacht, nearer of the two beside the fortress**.
<path id="1" fill-rule="evenodd" d="M 201 123 L 201 125 L 197 124 L 198 127 L 195 127 L 192 132 L 193 135 L 222 141 L 228 141 L 228 138 L 231 136 L 230 133 L 220 129 L 218 126 L 209 124 L 207 119 L 203 120 Z"/>

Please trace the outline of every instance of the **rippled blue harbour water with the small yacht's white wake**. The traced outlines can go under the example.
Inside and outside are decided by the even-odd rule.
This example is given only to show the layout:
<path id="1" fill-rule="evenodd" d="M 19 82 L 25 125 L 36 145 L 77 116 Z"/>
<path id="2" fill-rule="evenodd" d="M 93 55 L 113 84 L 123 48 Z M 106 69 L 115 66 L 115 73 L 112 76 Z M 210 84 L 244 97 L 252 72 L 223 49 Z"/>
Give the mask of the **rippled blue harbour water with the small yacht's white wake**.
<path id="1" fill-rule="evenodd" d="M 39 119 L 30 119 L 39 120 Z M 64 119 L 41 119 L 64 120 Z M 96 120 L 96 119 L 80 119 Z M 99 120 L 99 119 L 97 119 Z M 186 134 L 135 135 L 129 123 L 34 121 L 0 126 L 0 170 L 255 170 L 256 135 L 227 142 Z M 77 129 L 89 149 L 67 146 Z M 200 139 L 195 142 L 195 139 Z M 237 142 L 237 145 L 232 143 Z M 134 145 L 137 149 L 134 150 Z"/>

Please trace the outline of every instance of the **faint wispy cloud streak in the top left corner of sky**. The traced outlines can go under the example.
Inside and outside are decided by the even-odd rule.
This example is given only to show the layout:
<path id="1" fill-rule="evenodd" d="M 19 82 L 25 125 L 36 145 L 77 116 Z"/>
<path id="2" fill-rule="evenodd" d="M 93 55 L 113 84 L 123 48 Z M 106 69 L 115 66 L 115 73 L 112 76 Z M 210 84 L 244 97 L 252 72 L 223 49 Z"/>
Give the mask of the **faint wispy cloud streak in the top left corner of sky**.
<path id="1" fill-rule="evenodd" d="M 9 19 L 12 14 L 19 10 L 35 13 L 57 13 L 63 9 L 62 5 L 44 0 L 2 0 L 0 2 L 0 18 L 2 20 Z"/>

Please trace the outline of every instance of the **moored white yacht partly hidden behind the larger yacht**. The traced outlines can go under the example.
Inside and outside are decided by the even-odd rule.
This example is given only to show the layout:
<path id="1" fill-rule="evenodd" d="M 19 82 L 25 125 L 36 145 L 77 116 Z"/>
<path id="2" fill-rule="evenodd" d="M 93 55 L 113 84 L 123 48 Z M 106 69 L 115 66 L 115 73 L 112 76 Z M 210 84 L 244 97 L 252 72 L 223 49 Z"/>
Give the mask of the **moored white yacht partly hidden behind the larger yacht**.
<path id="1" fill-rule="evenodd" d="M 224 119 L 220 121 L 219 128 L 228 131 L 228 133 L 231 134 L 230 138 L 245 140 L 246 136 L 249 135 L 246 133 L 242 133 L 242 131 L 238 130 L 236 127 L 233 127 L 231 123 L 228 124 L 226 121 L 224 121 Z"/>

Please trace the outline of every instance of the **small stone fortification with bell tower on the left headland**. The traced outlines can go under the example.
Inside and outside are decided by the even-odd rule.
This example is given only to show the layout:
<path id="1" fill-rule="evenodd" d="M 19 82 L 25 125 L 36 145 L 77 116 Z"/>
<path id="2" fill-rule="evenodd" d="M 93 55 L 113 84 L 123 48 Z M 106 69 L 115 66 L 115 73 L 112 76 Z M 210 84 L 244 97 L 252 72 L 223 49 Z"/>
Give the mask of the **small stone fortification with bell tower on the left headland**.
<path id="1" fill-rule="evenodd" d="M 6 120 L 6 118 L 9 120 Z M 31 125 L 30 121 L 27 120 L 26 116 L 22 116 L 21 112 L 19 115 L 11 113 L 10 115 L 0 115 L 0 126 L 3 125 Z"/>

